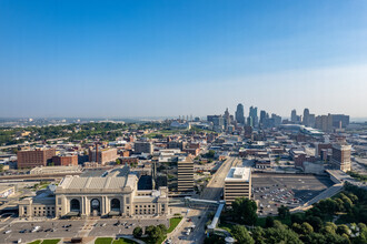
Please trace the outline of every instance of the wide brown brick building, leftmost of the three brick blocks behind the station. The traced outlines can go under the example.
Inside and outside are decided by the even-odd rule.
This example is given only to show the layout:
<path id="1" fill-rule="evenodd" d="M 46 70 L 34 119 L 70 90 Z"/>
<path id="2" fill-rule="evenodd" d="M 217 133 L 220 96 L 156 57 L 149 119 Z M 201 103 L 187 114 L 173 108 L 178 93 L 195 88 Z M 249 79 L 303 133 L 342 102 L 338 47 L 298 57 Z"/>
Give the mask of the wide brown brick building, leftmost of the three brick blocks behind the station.
<path id="1" fill-rule="evenodd" d="M 36 149 L 19 151 L 18 169 L 47 166 L 48 162 L 51 162 L 52 156 L 56 155 L 56 149 Z"/>

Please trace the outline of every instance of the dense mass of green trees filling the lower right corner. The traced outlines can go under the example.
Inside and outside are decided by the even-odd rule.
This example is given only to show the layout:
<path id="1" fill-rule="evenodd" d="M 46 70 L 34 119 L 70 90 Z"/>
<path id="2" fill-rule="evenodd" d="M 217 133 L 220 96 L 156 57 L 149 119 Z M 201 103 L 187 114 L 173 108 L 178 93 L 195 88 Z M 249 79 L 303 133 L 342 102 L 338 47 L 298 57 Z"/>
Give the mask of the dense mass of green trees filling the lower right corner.
<path id="1" fill-rule="evenodd" d="M 231 230 L 232 236 L 241 243 L 367 243 L 367 191 L 347 184 L 345 191 L 333 199 L 323 200 L 305 213 L 290 214 L 289 209 L 280 206 L 278 218 L 288 225 L 268 216 L 265 227 L 257 226 L 248 232 L 246 226 L 256 225 L 256 203 L 241 197 L 232 203 L 227 214 L 238 223 Z M 329 220 L 335 216 L 348 220 L 346 224 L 336 225 Z M 355 224 L 359 223 L 359 224 Z M 245 226 L 246 225 L 246 226 Z M 225 243 L 220 236 L 210 236 L 206 243 Z"/>

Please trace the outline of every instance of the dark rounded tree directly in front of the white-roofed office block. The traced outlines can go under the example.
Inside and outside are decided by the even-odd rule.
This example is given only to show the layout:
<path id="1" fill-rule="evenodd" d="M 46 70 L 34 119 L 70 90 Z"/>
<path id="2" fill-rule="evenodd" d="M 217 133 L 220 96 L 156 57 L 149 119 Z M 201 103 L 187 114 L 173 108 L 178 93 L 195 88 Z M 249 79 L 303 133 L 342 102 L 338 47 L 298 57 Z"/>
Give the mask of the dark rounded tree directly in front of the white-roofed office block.
<path id="1" fill-rule="evenodd" d="M 247 197 L 238 197 L 232 202 L 232 217 L 239 224 L 255 225 L 257 222 L 256 202 Z"/>

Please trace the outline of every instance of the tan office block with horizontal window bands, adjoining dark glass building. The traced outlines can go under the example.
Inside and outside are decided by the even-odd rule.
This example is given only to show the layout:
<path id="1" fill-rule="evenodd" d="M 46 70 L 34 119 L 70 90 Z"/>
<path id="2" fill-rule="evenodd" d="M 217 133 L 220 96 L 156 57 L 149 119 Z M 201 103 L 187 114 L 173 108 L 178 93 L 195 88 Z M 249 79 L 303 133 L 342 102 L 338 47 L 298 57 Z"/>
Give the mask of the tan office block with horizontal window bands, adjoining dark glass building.
<path id="1" fill-rule="evenodd" d="M 190 157 L 177 162 L 177 190 L 179 192 L 194 191 L 194 161 Z"/>

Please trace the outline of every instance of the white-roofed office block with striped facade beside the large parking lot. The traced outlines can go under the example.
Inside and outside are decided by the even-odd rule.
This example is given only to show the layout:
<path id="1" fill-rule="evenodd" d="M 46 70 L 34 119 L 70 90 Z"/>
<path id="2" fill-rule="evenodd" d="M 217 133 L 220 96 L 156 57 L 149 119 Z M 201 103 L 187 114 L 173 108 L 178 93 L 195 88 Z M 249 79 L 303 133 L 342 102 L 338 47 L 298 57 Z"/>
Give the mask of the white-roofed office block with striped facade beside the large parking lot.
<path id="1" fill-rule="evenodd" d="M 237 197 L 251 197 L 250 167 L 231 167 L 225 179 L 225 201 L 230 206 Z"/>

